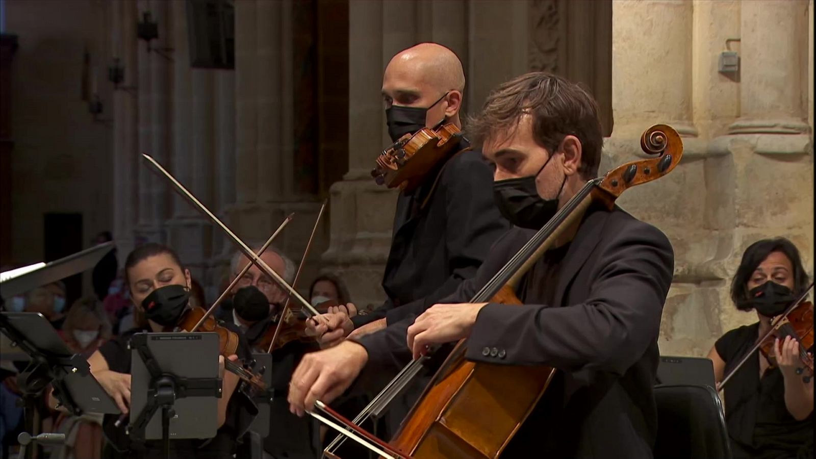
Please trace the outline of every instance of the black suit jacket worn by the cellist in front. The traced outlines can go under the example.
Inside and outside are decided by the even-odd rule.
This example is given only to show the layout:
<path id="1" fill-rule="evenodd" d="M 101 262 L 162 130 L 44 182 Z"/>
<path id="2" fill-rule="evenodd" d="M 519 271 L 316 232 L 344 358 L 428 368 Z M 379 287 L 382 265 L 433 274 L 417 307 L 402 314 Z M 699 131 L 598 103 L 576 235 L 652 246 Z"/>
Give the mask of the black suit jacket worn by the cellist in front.
<path id="1" fill-rule="evenodd" d="M 469 301 L 532 234 L 509 231 L 476 278 L 444 302 Z M 557 285 L 544 286 L 556 289 L 552 304 L 527 294 L 541 290 L 530 278 L 518 292 L 524 305 L 481 309 L 468 338 L 468 359 L 560 370 L 503 457 L 527 457 L 530 451 L 548 457 L 652 457 L 657 340 L 673 265 L 672 246 L 659 230 L 619 208 L 593 210 L 565 253 Z M 413 319 L 356 340 L 369 353 L 366 368 L 410 361 L 406 329 Z"/>

